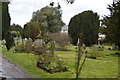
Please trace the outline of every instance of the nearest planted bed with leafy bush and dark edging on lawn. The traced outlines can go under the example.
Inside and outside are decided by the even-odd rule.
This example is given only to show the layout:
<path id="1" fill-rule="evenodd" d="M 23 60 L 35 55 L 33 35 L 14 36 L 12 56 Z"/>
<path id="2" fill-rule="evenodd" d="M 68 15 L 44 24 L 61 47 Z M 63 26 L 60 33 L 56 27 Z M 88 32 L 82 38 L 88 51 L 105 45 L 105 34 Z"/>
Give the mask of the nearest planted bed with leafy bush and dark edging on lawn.
<path id="1" fill-rule="evenodd" d="M 51 53 L 37 55 L 37 67 L 49 73 L 65 72 L 68 70 L 67 67 L 64 66 L 63 60 L 56 55 L 51 55 Z"/>

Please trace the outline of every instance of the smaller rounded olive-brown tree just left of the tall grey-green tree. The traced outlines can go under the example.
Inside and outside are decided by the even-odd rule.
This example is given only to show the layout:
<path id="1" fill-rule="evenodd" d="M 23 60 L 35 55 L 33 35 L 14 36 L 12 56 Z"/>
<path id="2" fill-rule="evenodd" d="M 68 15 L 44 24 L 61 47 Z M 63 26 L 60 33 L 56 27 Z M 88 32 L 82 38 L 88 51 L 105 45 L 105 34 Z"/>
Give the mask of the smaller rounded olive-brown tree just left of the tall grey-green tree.
<path id="1" fill-rule="evenodd" d="M 29 22 L 24 25 L 22 38 L 31 38 L 33 41 L 40 34 L 40 24 L 38 22 Z"/>

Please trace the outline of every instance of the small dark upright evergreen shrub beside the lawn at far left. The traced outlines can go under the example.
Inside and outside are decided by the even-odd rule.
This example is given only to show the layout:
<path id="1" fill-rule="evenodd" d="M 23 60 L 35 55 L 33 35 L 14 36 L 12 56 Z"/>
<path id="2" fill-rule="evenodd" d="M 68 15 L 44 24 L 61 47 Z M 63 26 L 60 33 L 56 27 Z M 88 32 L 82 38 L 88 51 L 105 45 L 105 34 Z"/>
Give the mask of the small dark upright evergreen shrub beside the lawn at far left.
<path id="1" fill-rule="evenodd" d="M 10 50 L 10 48 L 12 48 L 12 46 L 14 45 L 13 34 L 10 31 L 6 33 L 5 40 L 6 40 L 6 48 L 7 50 Z"/>

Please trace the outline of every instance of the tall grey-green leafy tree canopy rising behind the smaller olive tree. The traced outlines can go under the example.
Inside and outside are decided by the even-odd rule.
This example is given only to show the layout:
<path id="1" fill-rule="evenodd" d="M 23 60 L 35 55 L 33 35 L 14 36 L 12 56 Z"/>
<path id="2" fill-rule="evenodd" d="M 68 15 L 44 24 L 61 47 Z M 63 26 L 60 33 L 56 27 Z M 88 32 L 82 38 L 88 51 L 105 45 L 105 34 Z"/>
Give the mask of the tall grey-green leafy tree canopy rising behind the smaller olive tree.
<path id="1" fill-rule="evenodd" d="M 42 35 L 46 32 L 59 32 L 63 21 L 62 13 L 58 7 L 44 7 L 41 10 L 33 12 L 31 22 L 39 22 L 41 24 Z"/>

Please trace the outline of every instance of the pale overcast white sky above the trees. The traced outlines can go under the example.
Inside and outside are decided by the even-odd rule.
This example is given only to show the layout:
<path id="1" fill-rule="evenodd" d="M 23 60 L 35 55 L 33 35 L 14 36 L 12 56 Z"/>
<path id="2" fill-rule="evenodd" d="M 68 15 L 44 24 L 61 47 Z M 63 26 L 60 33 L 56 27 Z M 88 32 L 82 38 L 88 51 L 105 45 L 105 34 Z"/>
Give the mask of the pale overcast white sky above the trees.
<path id="1" fill-rule="evenodd" d="M 92 10 L 102 16 L 109 15 L 107 9 L 108 4 L 112 4 L 113 0 L 75 0 L 73 4 L 67 4 L 65 0 L 11 0 L 9 4 L 9 13 L 11 16 L 11 24 L 19 24 L 22 27 L 32 18 L 34 11 L 40 10 L 45 6 L 49 6 L 50 2 L 61 5 L 62 20 L 68 25 L 70 19 L 83 11 Z"/>

